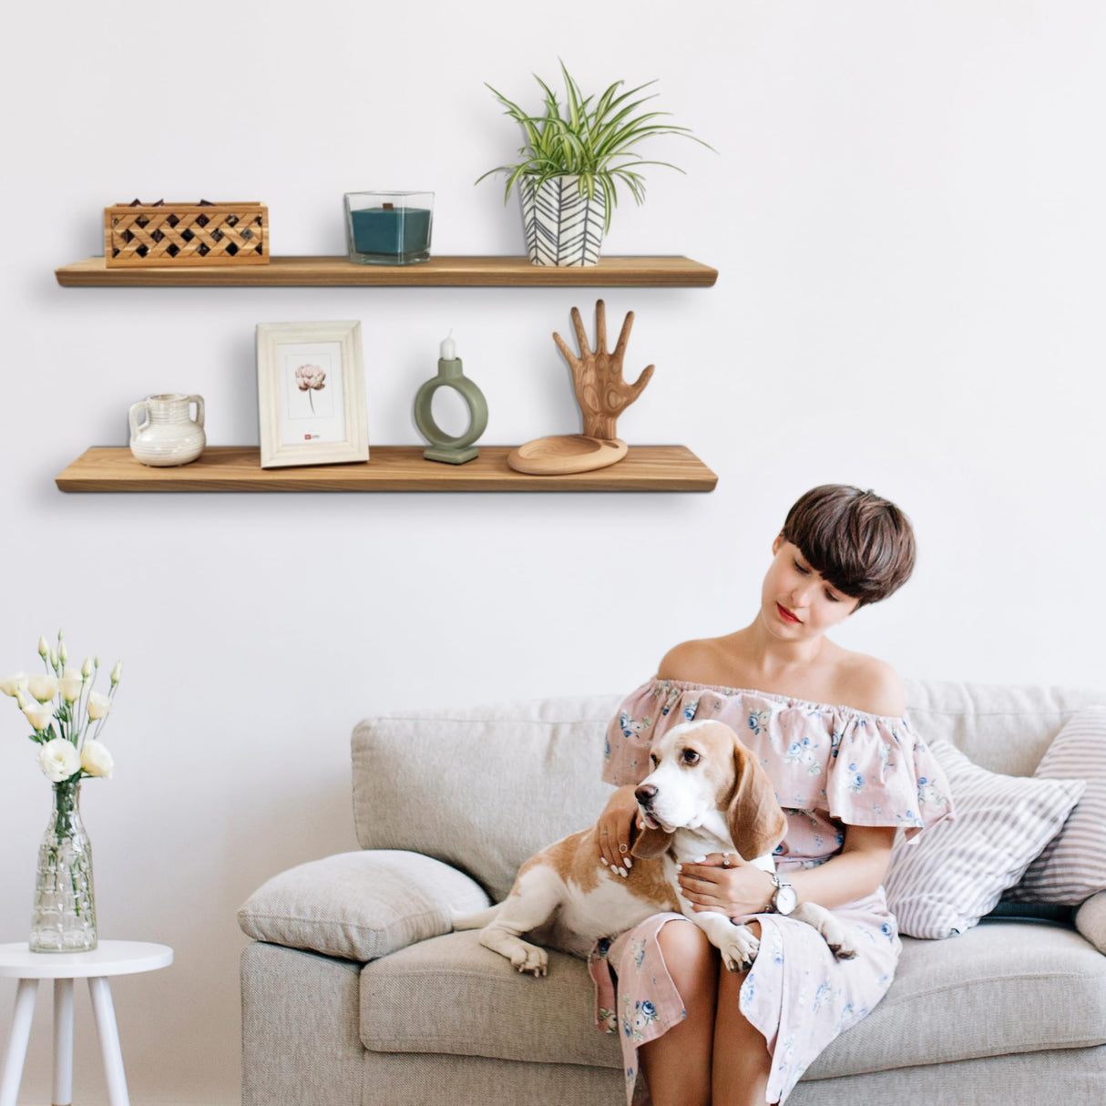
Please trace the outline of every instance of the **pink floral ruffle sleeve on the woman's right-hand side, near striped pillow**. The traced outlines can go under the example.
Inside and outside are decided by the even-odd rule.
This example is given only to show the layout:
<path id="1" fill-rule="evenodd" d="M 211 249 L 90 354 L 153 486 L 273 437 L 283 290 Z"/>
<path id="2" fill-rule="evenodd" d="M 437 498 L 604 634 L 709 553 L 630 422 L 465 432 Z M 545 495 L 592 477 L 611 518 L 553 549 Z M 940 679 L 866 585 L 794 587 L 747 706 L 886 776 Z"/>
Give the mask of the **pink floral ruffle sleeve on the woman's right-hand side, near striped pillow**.
<path id="1" fill-rule="evenodd" d="M 952 813 L 945 772 L 906 719 L 847 711 L 835 722 L 824 797 L 832 817 L 901 826 L 909 838 Z"/>

